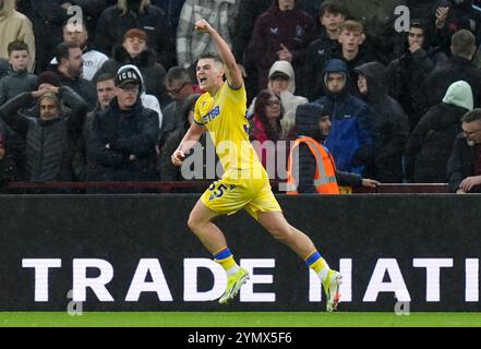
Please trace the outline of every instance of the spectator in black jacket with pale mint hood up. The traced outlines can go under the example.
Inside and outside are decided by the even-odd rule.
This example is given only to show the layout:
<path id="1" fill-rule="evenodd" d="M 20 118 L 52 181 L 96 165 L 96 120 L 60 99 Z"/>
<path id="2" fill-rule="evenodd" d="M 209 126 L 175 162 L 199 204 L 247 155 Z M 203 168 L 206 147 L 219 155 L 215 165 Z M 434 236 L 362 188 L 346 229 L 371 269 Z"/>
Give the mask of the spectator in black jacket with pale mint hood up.
<path id="1" fill-rule="evenodd" d="M 421 118 L 406 147 L 406 177 L 414 183 L 445 183 L 446 164 L 462 116 L 472 110 L 472 92 L 468 83 L 449 86 L 443 103 Z"/>

